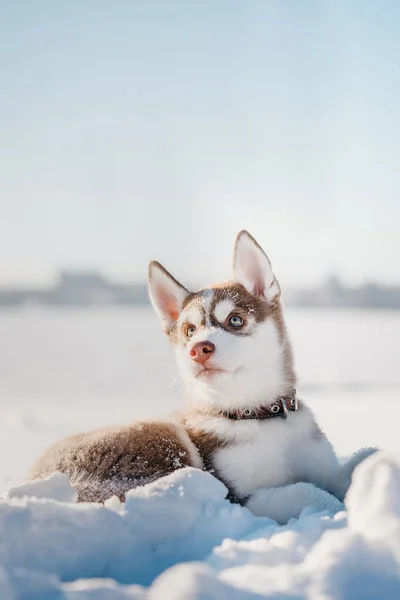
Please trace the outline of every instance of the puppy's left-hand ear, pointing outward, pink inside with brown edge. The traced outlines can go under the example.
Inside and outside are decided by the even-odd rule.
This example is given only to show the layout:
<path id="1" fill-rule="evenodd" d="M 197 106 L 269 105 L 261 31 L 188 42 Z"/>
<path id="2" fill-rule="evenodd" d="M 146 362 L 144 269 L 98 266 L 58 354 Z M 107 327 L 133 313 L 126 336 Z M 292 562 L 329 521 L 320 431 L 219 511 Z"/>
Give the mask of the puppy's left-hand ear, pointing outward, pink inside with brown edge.
<path id="1" fill-rule="evenodd" d="M 165 333 L 169 334 L 189 293 L 159 262 L 150 263 L 149 296 Z"/>

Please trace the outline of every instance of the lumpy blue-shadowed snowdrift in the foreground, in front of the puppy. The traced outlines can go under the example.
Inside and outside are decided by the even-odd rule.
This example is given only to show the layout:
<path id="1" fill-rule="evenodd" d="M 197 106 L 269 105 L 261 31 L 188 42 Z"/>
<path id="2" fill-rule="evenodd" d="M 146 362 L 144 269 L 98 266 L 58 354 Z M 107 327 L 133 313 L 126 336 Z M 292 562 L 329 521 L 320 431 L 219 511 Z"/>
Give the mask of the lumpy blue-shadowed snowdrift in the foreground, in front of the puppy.
<path id="1" fill-rule="evenodd" d="M 75 504 L 61 474 L 0 502 L 1 600 L 400 598 L 400 454 L 356 468 L 344 507 L 309 484 L 266 494 L 287 525 L 182 469 L 126 502 Z M 272 513 L 271 513 L 272 514 Z"/>

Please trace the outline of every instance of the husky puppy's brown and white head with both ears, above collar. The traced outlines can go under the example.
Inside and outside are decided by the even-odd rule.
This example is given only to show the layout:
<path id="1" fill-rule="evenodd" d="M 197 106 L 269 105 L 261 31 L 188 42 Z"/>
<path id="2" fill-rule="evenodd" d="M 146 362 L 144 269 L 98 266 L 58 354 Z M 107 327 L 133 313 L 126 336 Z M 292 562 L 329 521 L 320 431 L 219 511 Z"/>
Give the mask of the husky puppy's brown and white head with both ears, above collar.
<path id="1" fill-rule="evenodd" d="M 158 262 L 149 269 L 150 299 L 190 396 L 225 409 L 273 401 L 295 384 L 280 287 L 247 231 L 237 236 L 233 268 L 233 281 L 199 292 Z"/>

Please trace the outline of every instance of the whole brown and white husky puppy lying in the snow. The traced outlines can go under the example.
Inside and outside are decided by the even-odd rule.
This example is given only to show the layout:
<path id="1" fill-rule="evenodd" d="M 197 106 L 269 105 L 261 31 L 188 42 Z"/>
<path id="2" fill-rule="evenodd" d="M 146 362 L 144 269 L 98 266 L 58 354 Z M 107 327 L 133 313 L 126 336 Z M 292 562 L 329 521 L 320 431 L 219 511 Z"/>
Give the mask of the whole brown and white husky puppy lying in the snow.
<path id="1" fill-rule="evenodd" d="M 250 508 L 264 488 L 299 481 L 343 498 L 348 477 L 303 402 L 287 419 L 226 416 L 269 406 L 296 386 L 280 287 L 254 238 L 246 231 L 237 237 L 233 281 L 193 293 L 152 262 L 149 295 L 176 354 L 184 411 L 170 422 L 63 440 L 41 457 L 32 478 L 61 471 L 80 500 L 104 501 L 194 466 L 214 473 Z"/>

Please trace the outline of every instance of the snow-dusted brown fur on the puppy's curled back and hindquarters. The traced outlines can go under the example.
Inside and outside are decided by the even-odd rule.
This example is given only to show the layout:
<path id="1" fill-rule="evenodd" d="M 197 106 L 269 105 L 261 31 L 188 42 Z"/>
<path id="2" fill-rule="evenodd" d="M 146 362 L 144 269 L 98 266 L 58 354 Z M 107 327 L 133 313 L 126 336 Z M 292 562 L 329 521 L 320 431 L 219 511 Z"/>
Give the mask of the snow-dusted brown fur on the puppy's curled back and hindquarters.
<path id="1" fill-rule="evenodd" d="M 139 422 L 71 436 L 45 452 L 30 479 L 60 471 L 71 479 L 78 501 L 104 502 L 112 495 L 123 500 L 133 487 L 181 467 L 199 466 L 194 464 L 186 432 L 179 433 L 178 427 L 162 421 Z"/>

